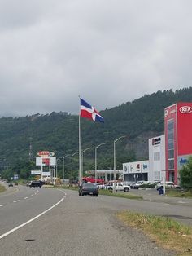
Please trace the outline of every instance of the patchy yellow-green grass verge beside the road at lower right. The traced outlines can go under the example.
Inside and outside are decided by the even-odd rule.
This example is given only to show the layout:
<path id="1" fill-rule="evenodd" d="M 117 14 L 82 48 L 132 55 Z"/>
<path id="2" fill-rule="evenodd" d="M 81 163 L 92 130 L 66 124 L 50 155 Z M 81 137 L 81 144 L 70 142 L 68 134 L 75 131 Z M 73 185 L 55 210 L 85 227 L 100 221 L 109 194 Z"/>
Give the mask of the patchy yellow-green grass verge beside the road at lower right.
<path id="1" fill-rule="evenodd" d="M 125 224 L 142 229 L 161 247 L 177 252 L 177 255 L 192 255 L 192 227 L 187 227 L 171 218 L 123 211 L 117 214 Z"/>

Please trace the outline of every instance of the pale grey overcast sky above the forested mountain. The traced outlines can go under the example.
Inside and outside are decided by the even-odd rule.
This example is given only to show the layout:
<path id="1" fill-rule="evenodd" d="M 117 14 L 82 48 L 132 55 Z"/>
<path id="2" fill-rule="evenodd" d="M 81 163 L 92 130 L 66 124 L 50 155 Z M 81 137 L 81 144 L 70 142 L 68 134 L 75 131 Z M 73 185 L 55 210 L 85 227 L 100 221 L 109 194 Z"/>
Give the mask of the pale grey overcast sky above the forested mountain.
<path id="1" fill-rule="evenodd" d="M 192 81 L 191 0 L 0 0 L 0 116 L 99 110 Z"/>

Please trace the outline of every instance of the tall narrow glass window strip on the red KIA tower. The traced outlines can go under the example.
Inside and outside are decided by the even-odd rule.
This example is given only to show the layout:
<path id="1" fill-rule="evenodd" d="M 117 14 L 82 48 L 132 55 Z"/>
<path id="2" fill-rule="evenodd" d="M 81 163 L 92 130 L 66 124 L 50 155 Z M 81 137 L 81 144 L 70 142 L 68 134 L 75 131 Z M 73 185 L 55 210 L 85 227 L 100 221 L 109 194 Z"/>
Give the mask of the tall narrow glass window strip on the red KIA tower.
<path id="1" fill-rule="evenodd" d="M 168 120 L 168 170 L 174 170 L 174 120 Z"/>

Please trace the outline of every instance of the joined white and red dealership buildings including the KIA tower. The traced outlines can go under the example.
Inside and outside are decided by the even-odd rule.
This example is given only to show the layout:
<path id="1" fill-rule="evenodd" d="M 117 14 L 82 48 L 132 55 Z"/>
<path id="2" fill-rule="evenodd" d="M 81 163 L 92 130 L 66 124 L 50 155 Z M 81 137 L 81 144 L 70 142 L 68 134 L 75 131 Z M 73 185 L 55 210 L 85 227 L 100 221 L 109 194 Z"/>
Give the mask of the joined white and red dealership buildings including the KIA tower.
<path id="1" fill-rule="evenodd" d="M 123 164 L 125 181 L 179 183 L 179 170 L 192 155 L 192 103 L 164 109 L 164 135 L 149 139 L 149 160 Z"/>

